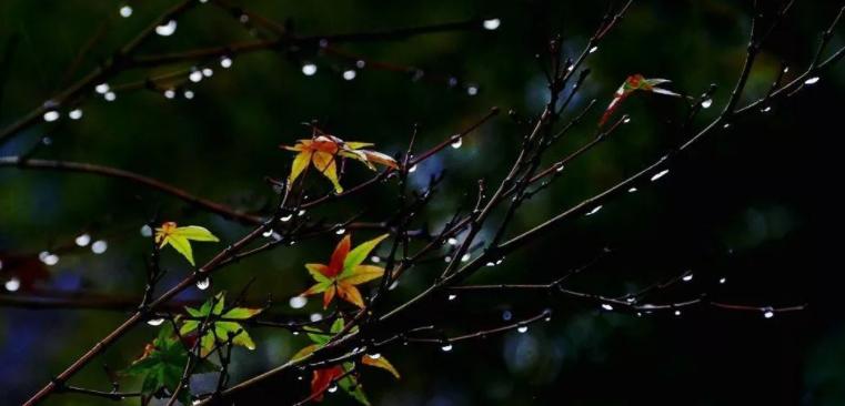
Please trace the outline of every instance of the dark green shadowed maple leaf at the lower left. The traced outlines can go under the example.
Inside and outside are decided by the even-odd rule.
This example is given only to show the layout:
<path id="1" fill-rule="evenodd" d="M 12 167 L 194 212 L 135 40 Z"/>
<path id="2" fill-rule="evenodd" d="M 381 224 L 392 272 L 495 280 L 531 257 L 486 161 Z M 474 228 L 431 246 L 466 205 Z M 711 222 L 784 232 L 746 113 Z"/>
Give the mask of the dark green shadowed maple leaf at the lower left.
<path id="1" fill-rule="evenodd" d="M 143 355 L 122 371 L 123 375 L 143 376 L 141 393 L 149 398 L 167 389 L 173 394 L 182 380 L 182 373 L 190 359 L 188 348 L 173 334 L 173 327 L 165 324 L 159 336 L 144 347 Z M 194 374 L 218 371 L 217 365 L 205 358 L 198 359 Z M 179 402 L 191 404 L 191 390 L 181 390 Z"/>

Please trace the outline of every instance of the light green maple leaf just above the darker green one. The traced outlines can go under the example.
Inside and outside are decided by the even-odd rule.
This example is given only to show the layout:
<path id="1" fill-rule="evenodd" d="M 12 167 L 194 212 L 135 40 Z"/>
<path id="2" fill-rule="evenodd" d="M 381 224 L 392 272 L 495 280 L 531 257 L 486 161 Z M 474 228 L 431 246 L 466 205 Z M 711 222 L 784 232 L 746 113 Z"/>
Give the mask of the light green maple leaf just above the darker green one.
<path id="1" fill-rule="evenodd" d="M 230 334 L 232 335 L 232 344 L 255 349 L 255 343 L 252 341 L 252 337 L 243 329 L 240 323 L 233 321 L 251 318 L 261 313 L 262 308 L 233 307 L 223 313 L 224 307 L 225 293 L 223 292 L 205 301 L 199 309 L 185 307 L 188 314 L 193 318 L 184 321 L 182 327 L 179 328 L 179 334 L 182 336 L 188 335 L 199 329 L 201 323 L 208 321 L 210 326 L 205 328 L 202 337 L 200 337 L 200 346 L 203 354 L 210 353 L 214 348 L 215 343 L 227 343 Z"/>

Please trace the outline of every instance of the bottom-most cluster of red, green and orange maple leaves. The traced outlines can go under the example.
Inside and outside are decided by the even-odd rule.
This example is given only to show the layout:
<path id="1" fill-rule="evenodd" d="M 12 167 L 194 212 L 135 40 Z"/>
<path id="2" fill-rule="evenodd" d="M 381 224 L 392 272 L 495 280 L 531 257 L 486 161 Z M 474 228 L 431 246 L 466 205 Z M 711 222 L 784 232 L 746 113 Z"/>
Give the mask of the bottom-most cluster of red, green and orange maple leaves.
<path id="1" fill-rule="evenodd" d="M 329 332 L 323 332 L 314 327 L 305 327 L 308 337 L 313 342 L 313 344 L 303 347 L 296 354 L 294 354 L 293 361 L 305 358 L 311 355 L 311 353 L 325 346 L 332 336 L 338 335 L 343 331 L 344 326 L 345 325 L 343 318 L 339 317 L 334 321 L 334 323 L 332 323 Z M 350 333 L 355 332 L 358 332 L 358 327 L 350 328 Z M 396 379 L 400 378 L 399 372 L 395 367 L 393 367 L 393 364 L 391 364 L 390 361 L 388 361 L 388 358 L 381 354 L 364 355 L 360 358 L 360 362 L 363 365 L 382 368 L 391 373 L 391 375 L 393 375 Z M 326 368 L 315 369 L 312 373 L 311 378 L 310 399 L 315 402 L 322 400 L 323 393 L 332 387 L 332 385 L 336 384 L 341 389 L 343 389 L 343 392 L 352 396 L 355 400 L 360 402 L 363 405 L 370 405 L 370 400 L 366 398 L 358 376 L 353 374 L 354 369 L 354 362 L 346 362 Z"/>

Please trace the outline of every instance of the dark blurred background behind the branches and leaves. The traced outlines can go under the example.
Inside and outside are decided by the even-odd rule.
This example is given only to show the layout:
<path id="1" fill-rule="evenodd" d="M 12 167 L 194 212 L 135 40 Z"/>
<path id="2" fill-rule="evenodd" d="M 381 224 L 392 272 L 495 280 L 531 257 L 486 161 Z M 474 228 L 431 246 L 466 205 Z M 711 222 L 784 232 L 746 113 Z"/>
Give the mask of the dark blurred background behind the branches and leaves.
<path id="1" fill-rule="evenodd" d="M 40 105 L 58 90 L 93 69 L 99 60 L 145 27 L 167 1 L 133 2 L 122 19 L 112 1 L 3 1 L 0 47 L 17 35 L 11 62 L 0 78 L 0 122 L 8 124 Z M 42 136 L 52 143 L 39 158 L 92 162 L 123 168 L 164 180 L 198 195 L 245 211 L 266 211 L 272 190 L 265 175 L 283 177 L 291 154 L 276 148 L 306 136 L 301 122 L 316 119 L 346 140 L 376 142 L 386 153 L 403 151 L 412 124 L 420 124 L 421 149 L 440 142 L 483 115 L 491 106 L 530 116 L 545 101 L 544 79 L 534 53 L 550 33 L 564 35 L 567 55 L 575 55 L 601 19 L 605 2 L 586 1 L 427 1 L 427 2 L 250 2 L 264 17 L 290 19 L 303 34 L 354 32 L 380 28 L 497 17 L 499 30 L 451 32 L 402 41 L 339 45 L 385 61 L 416 67 L 425 74 L 364 68 L 352 81 L 341 78 L 348 62 L 303 52 L 318 64 L 304 77 L 300 62 L 284 52 L 262 51 L 234 59 L 229 70 L 191 85 L 195 98 L 168 100 L 141 90 L 119 92 L 114 102 L 91 98 L 80 121 L 41 123 L 0 148 L 0 155 L 28 151 Z M 801 72 L 816 49 L 819 32 L 838 10 L 835 2 L 798 2 L 764 47 L 741 105 L 765 94 L 781 61 Z M 591 55 L 592 69 L 573 110 L 592 99 L 603 106 L 627 74 L 668 78 L 674 88 L 698 94 L 718 85 L 713 108 L 696 121 L 703 125 L 721 111 L 742 65 L 751 2 L 636 1 L 625 20 Z M 82 59 L 68 67 L 85 42 L 105 26 L 105 35 Z M 843 43 L 839 33 L 832 49 Z M 179 20 L 177 32 L 154 38 L 140 53 L 160 53 L 248 40 L 248 30 L 231 16 L 201 4 Z M 372 64 L 371 64 L 372 65 Z M 150 74 L 189 68 L 178 64 L 132 71 L 110 81 L 130 82 Z M 787 74 L 787 78 L 794 73 Z M 461 80 L 450 88 L 443 80 Z M 466 87 L 477 85 L 471 97 Z M 561 296 L 461 295 L 453 303 L 431 305 L 446 333 L 460 334 L 497 325 L 503 312 L 514 319 L 544 307 L 555 309 L 551 323 L 455 345 L 442 353 L 436 345 L 396 346 L 384 352 L 403 374 L 363 372 L 374 404 L 571 404 L 571 405 L 842 405 L 845 404 L 845 328 L 838 261 L 841 216 L 836 148 L 842 135 L 845 75 L 834 67 L 817 85 L 774 106 L 766 114 L 735 123 L 702 141 L 657 182 L 638 185 L 596 215 L 566 223 L 540 241 L 484 268 L 479 283 L 546 283 L 583 264 L 603 247 L 612 254 L 572 280 L 571 287 L 604 295 L 623 295 L 638 287 L 692 271 L 692 282 L 661 292 L 654 302 L 681 301 L 706 293 L 722 302 L 754 306 L 808 303 L 806 311 L 777 314 L 714 308 L 685 309 L 677 317 L 600 312 L 595 303 Z M 514 226 L 525 230 L 602 191 L 653 162 L 683 142 L 676 124 L 684 109 L 676 100 L 642 95 L 622 108 L 631 124 L 569 166 L 553 187 L 521 211 Z M 550 162 L 590 140 L 600 109 L 550 152 Z M 570 113 L 571 114 L 571 113 Z M 566 116 L 566 115 L 565 115 Z M 446 177 L 426 216 L 439 230 L 475 180 L 497 181 L 515 156 L 525 125 L 501 114 L 447 149 L 414 173 L 422 186 L 427 175 Z M 369 176 L 362 168 L 342 182 Z M 315 181 L 318 187 L 328 182 Z M 394 187 L 325 206 L 313 217 L 341 221 L 368 209 L 378 221 L 394 202 Z M 139 229 L 158 211 L 182 224 L 201 224 L 225 242 L 248 229 L 183 202 L 114 180 L 84 174 L 0 169 L 0 254 L 37 255 L 72 243 L 80 233 L 109 243 L 94 255 L 88 248 L 62 252 L 33 286 L 3 292 L 3 297 L 44 292 L 109 294 L 135 297 L 142 292 L 142 253 L 149 242 Z M 372 235 L 359 233 L 355 241 Z M 482 237 L 490 235 L 485 234 Z M 332 236 L 333 237 L 333 236 Z M 336 241 L 321 238 L 266 253 L 223 271 L 212 291 L 239 291 L 251 276 L 249 293 L 258 303 L 272 295 L 274 313 L 320 312 L 319 300 L 291 309 L 288 298 L 310 283 L 305 262 L 328 258 Z M 222 245 L 194 244 L 198 262 Z M 164 255 L 170 285 L 189 272 L 172 252 Z M 423 288 L 441 264 L 414 268 L 393 291 L 399 304 Z M 20 274 L 16 274 L 20 273 Z M 0 270 L 3 281 L 31 276 L 32 268 Z M 37 273 L 37 272 L 36 272 Z M 22 276 L 23 275 L 23 276 Z M 718 278 L 727 283 L 720 285 Z M 182 300 L 203 298 L 190 290 Z M 18 404 L 124 319 L 127 314 L 79 309 L 0 309 L 0 383 L 2 404 Z M 306 344 L 302 336 L 252 328 L 254 353 L 235 351 L 235 380 L 286 361 Z M 122 368 L 135 358 L 155 329 L 140 326 L 92 363 L 72 383 L 108 389 L 101 364 Z M 209 383 L 205 382 L 205 385 Z M 124 389 L 137 382 L 128 379 Z M 202 387 L 203 382 L 195 383 Z M 278 387 L 276 387 L 278 388 Z M 306 388 L 283 386 L 284 396 L 302 398 Z M 270 403 L 256 397 L 250 403 Z M 263 399 L 263 400 L 259 400 Z M 98 403 L 99 402 L 99 403 Z M 328 404 L 350 404 L 345 395 L 329 395 Z M 50 405 L 109 404 L 78 395 L 54 395 Z"/>

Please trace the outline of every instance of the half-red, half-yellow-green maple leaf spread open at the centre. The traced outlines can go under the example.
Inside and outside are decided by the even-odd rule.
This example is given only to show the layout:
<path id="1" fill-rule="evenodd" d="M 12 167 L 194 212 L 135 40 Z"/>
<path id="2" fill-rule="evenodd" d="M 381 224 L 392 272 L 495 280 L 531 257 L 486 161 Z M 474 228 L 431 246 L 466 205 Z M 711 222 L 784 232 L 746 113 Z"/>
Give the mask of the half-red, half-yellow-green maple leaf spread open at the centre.
<path id="1" fill-rule="evenodd" d="M 361 263 L 388 235 L 383 234 L 351 250 L 352 235 L 346 234 L 338 243 L 328 265 L 305 264 L 305 268 L 316 281 L 316 284 L 303 292 L 302 295 L 322 293 L 323 307 L 329 307 L 336 293 L 342 300 L 363 308 L 364 300 L 355 285 L 381 277 L 384 275 L 384 268 L 375 265 L 361 265 Z"/>

